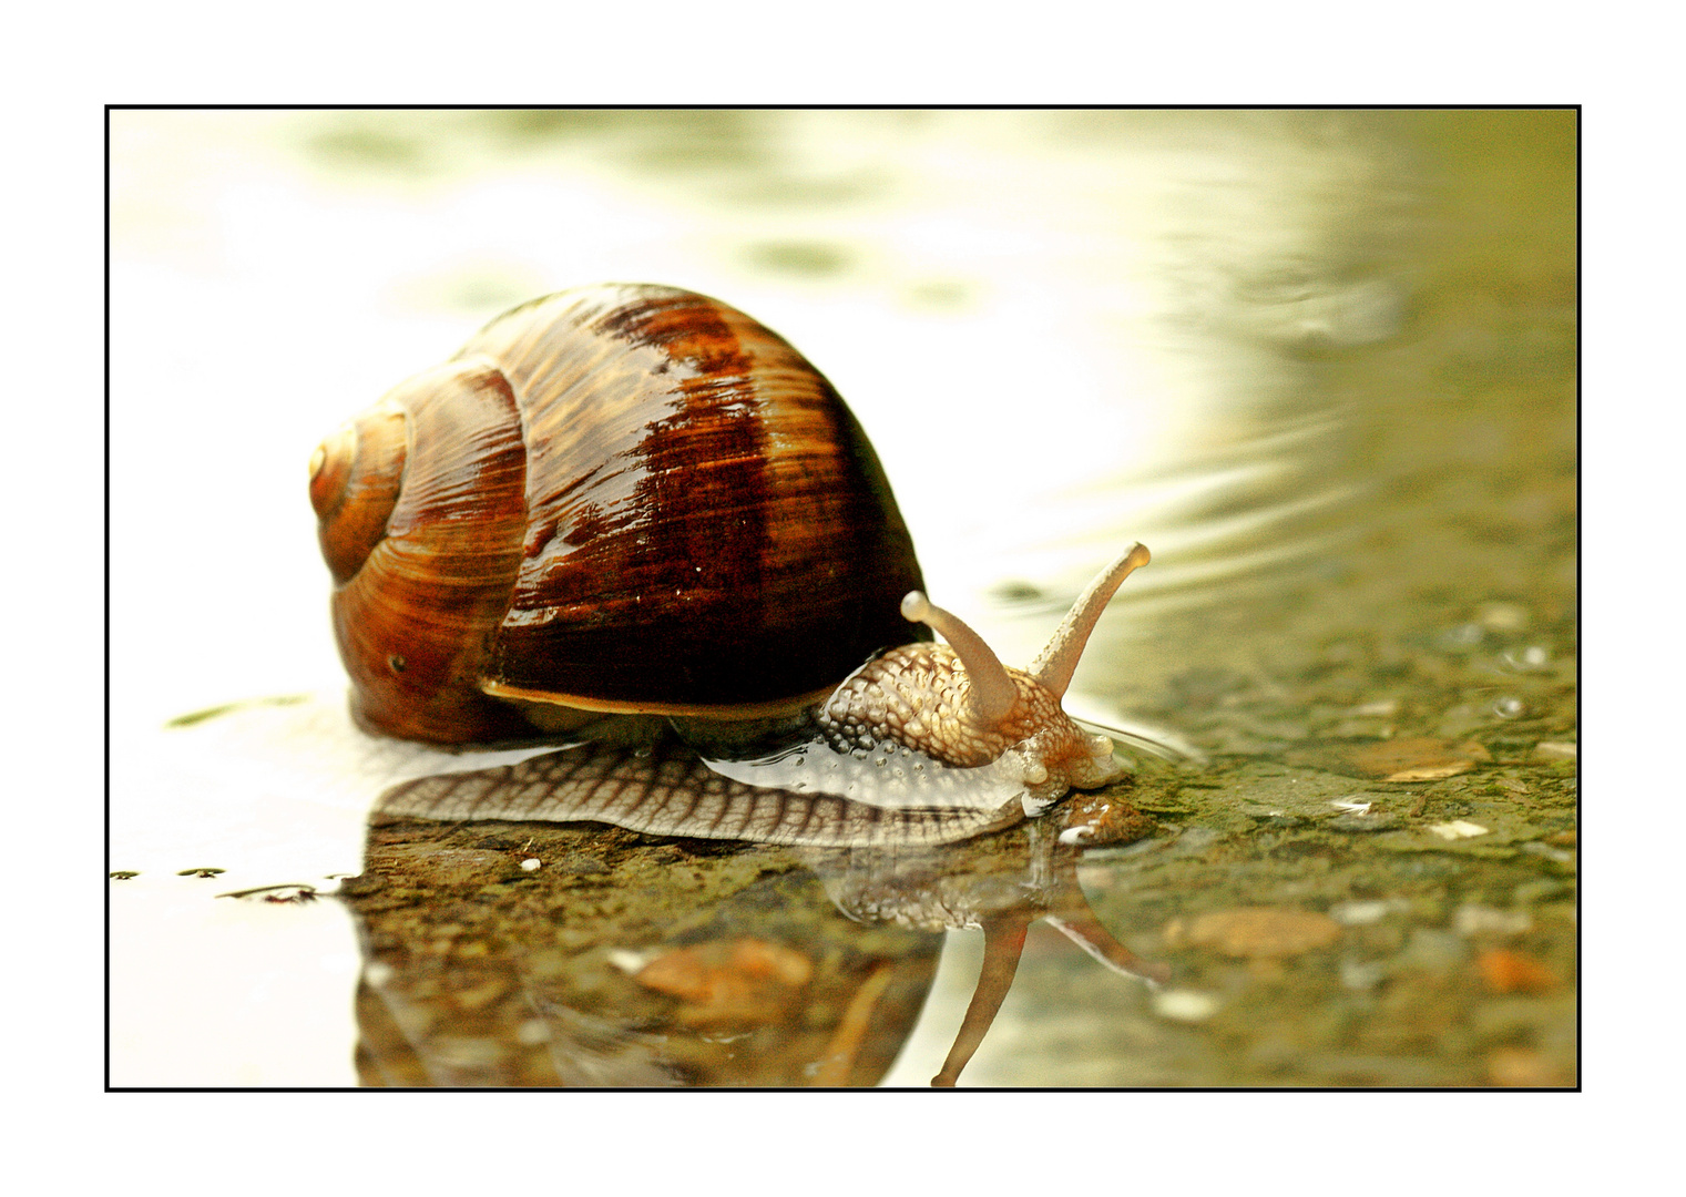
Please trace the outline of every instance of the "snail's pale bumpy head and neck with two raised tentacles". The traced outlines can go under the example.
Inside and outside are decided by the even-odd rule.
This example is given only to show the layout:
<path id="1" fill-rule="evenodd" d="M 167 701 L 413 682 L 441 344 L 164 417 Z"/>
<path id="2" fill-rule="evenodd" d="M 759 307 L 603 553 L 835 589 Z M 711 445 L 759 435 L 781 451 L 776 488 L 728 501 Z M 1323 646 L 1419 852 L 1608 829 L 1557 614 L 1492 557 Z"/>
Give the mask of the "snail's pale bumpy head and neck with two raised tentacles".
<path id="1" fill-rule="evenodd" d="M 1084 732 L 1060 698 L 1108 600 L 1146 563 L 1148 550 L 1131 545 L 1103 570 L 1028 671 L 1003 666 L 959 617 L 909 592 L 902 615 L 948 644 L 905 644 L 870 661 L 831 695 L 821 720 L 845 743 L 895 740 L 961 769 L 1013 759 L 1034 799 L 1104 786 L 1121 774 L 1113 742 Z"/>

